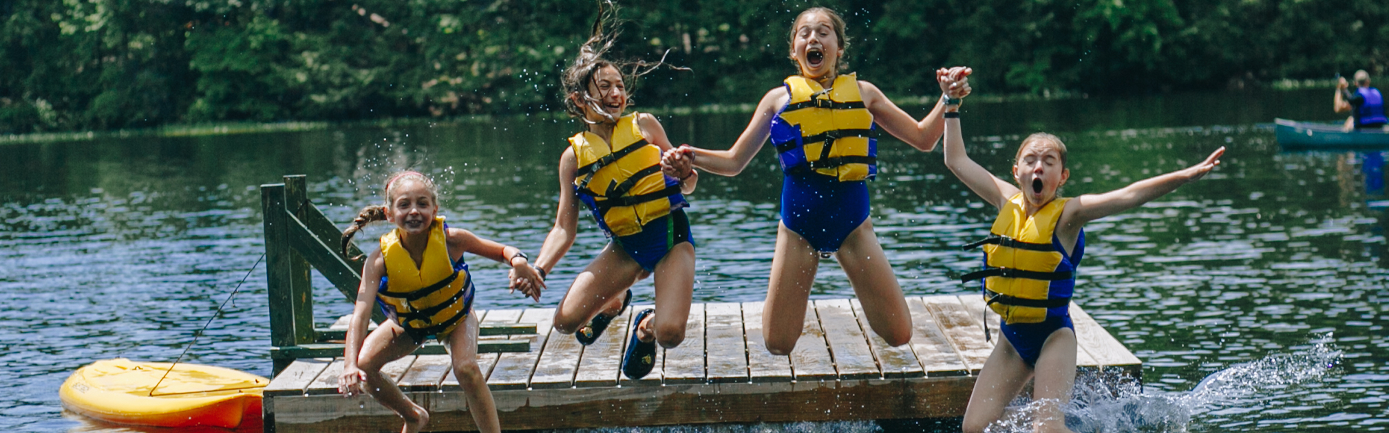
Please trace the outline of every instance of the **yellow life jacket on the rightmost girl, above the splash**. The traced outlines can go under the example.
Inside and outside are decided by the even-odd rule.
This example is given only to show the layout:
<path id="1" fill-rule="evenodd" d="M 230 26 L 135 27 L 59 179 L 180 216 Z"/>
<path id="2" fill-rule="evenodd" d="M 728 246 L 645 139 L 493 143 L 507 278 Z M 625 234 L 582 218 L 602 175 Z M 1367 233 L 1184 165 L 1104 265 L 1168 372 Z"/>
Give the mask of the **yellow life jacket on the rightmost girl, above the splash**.
<path id="1" fill-rule="evenodd" d="M 1024 211 L 1022 200 L 1022 193 L 1008 198 L 989 237 L 965 246 L 983 246 L 985 268 L 960 278 L 983 279 L 989 308 L 1007 323 L 1038 323 L 1049 315 L 1068 315 L 1075 268 L 1085 251 L 1083 232 L 1070 257 L 1053 243 L 1056 223 L 1070 198 L 1051 200 L 1032 216 Z"/>

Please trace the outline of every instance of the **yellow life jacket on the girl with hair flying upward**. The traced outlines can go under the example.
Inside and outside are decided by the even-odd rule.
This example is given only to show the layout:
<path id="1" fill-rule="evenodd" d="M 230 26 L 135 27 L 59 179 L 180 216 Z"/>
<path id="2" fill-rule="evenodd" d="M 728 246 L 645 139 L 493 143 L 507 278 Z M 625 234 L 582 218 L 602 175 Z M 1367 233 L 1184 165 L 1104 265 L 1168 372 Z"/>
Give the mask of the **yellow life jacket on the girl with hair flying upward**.
<path id="1" fill-rule="evenodd" d="M 608 236 L 640 233 L 647 222 L 688 205 L 679 180 L 661 173 L 661 148 L 642 136 L 635 112 L 617 121 L 611 144 L 585 130 L 569 137 L 569 146 L 579 161 L 574 190 Z"/>

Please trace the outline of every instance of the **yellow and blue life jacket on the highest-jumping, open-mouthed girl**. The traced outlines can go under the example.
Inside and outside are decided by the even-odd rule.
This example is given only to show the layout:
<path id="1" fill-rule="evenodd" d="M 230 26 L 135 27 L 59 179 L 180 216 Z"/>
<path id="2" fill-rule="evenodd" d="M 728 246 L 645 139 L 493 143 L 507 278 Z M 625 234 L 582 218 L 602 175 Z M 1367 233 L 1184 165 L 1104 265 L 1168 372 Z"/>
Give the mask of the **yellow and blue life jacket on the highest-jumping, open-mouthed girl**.
<path id="1" fill-rule="evenodd" d="M 814 172 L 840 182 L 875 178 L 876 130 L 858 94 L 857 76 L 840 75 L 829 89 L 800 75 L 786 78 L 785 83 L 790 100 L 771 125 L 782 171 Z"/>

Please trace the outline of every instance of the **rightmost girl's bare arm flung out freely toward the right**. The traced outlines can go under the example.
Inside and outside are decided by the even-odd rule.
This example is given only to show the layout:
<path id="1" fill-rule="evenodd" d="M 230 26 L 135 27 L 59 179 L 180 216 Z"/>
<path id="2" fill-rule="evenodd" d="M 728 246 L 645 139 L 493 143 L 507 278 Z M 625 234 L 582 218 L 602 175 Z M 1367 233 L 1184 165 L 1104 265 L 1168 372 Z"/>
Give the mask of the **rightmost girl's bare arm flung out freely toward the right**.
<path id="1" fill-rule="evenodd" d="M 1108 193 L 1075 197 L 1065 204 L 1060 223 L 1075 229 L 1083 226 L 1086 222 L 1143 205 L 1176 190 L 1178 186 L 1206 176 L 1215 165 L 1220 165 L 1220 157 L 1224 154 L 1225 147 L 1222 146 L 1213 151 L 1210 157 L 1206 157 L 1206 161 L 1185 169 L 1133 182 L 1129 186 Z"/>

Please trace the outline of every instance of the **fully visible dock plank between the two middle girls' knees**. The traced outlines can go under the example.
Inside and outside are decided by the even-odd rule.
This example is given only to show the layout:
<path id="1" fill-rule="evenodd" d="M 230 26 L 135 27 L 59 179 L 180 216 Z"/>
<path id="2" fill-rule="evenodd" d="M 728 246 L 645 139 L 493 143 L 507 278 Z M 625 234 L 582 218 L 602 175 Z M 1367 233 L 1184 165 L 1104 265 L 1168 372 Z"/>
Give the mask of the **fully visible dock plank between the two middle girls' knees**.
<path id="1" fill-rule="evenodd" d="M 747 382 L 747 340 L 743 339 L 740 304 L 704 304 L 704 358 L 710 383 Z"/>

